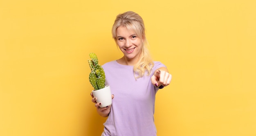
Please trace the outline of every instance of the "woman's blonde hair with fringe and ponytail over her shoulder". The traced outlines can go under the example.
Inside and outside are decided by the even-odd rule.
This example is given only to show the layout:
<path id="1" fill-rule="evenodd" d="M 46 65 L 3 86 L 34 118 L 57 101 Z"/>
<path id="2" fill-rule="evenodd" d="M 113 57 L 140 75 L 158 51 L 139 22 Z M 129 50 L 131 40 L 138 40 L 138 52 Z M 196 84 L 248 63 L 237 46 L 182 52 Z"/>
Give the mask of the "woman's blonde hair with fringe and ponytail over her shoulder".
<path id="1" fill-rule="evenodd" d="M 144 21 L 137 13 L 133 11 L 127 11 L 125 13 L 117 15 L 115 23 L 112 26 L 112 37 L 115 39 L 117 43 L 117 28 L 119 26 L 124 26 L 128 30 L 133 30 L 138 35 L 139 38 L 144 39 L 141 48 L 141 54 L 139 56 L 139 60 L 137 64 L 133 66 L 135 79 L 143 77 L 144 73 L 147 71 L 148 75 L 151 74 L 152 68 L 154 66 L 153 59 L 150 56 L 149 50 L 147 48 L 148 41 L 145 35 L 145 26 Z M 136 77 L 137 73 L 137 77 Z"/>

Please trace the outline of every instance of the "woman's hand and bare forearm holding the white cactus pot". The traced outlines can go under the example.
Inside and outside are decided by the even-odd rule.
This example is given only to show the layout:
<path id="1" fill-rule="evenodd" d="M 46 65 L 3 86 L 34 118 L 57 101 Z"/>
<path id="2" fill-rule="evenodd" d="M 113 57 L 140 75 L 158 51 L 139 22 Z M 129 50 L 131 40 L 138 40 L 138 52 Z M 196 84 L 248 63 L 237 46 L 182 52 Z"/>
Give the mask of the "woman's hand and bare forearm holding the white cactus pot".
<path id="1" fill-rule="evenodd" d="M 96 100 L 97 98 L 93 96 L 93 94 L 91 93 L 91 97 L 92 97 L 92 102 L 93 103 L 96 103 L 95 104 L 95 107 L 97 109 L 97 113 L 102 116 L 102 117 L 107 117 L 110 113 L 110 108 L 111 108 L 111 105 L 110 106 L 107 106 L 107 107 L 99 107 L 101 105 L 101 103 L 97 103 Z M 114 95 L 112 94 L 112 99 L 114 98 Z"/>

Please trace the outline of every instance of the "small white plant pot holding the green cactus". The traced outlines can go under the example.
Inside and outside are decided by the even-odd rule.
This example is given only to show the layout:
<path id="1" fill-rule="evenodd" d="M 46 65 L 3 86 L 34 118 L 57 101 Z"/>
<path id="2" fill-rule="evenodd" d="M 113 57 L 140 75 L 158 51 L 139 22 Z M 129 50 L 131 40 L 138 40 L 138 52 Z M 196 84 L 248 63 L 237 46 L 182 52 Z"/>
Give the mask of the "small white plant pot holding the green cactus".
<path id="1" fill-rule="evenodd" d="M 99 107 L 107 107 L 112 104 L 110 86 L 105 86 L 105 88 L 100 90 L 92 90 L 92 94 L 97 98 L 96 102 L 101 103 Z"/>

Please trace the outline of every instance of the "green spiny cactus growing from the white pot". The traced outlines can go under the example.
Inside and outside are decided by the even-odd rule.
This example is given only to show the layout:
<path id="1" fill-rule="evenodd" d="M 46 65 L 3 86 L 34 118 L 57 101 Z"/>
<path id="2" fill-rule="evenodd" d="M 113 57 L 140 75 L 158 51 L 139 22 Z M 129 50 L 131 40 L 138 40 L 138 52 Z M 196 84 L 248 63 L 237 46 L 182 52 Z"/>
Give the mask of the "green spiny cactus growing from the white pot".
<path id="1" fill-rule="evenodd" d="M 89 75 L 89 81 L 95 90 L 99 90 L 105 87 L 105 72 L 103 68 L 98 64 L 98 57 L 95 53 L 89 54 L 92 60 L 88 60 L 91 73 Z"/>

